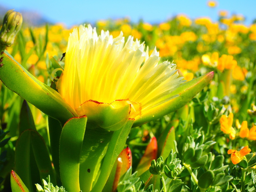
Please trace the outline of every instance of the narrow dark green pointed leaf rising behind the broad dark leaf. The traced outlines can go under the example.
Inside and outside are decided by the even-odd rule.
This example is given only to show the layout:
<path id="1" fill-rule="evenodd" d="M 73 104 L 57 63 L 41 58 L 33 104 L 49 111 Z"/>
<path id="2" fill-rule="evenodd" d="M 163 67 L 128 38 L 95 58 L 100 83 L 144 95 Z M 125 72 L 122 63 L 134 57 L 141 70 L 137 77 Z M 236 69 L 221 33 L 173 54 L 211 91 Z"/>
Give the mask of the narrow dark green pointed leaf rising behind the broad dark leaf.
<path id="1" fill-rule="evenodd" d="M 31 110 L 26 100 L 24 100 L 20 110 L 19 135 L 26 129 L 33 129 L 36 131 Z"/>

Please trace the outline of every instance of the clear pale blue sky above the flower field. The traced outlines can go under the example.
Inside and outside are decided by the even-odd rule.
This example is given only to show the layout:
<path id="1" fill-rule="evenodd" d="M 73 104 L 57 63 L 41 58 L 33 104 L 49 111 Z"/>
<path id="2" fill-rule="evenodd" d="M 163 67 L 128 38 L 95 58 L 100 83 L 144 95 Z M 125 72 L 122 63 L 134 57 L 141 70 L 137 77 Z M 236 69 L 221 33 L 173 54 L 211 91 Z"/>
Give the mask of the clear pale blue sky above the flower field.
<path id="1" fill-rule="evenodd" d="M 1 2 L 2 1 L 2 2 Z M 227 10 L 229 15 L 242 14 L 246 24 L 256 19 L 256 0 L 219 0 L 215 8 L 207 7 L 207 0 L 1 0 L 0 4 L 15 11 L 37 11 L 52 22 L 65 23 L 68 27 L 85 21 L 123 18 L 133 22 L 143 19 L 159 23 L 177 14 L 190 18 L 208 16 L 217 20 L 218 11 Z"/>

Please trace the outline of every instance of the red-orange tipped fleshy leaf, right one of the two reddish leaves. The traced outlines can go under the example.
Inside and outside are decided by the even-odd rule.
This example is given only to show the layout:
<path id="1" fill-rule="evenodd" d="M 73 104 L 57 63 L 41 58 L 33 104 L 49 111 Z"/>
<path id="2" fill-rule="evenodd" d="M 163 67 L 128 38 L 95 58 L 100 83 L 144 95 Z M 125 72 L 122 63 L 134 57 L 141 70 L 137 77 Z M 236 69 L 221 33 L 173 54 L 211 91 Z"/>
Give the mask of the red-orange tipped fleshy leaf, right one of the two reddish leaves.
<path id="1" fill-rule="evenodd" d="M 138 171 L 138 176 L 149 169 L 151 165 L 150 163 L 153 159 L 157 159 L 157 139 L 155 137 L 151 138 L 145 153 L 140 159 L 140 162 L 136 168 L 136 171 Z"/>

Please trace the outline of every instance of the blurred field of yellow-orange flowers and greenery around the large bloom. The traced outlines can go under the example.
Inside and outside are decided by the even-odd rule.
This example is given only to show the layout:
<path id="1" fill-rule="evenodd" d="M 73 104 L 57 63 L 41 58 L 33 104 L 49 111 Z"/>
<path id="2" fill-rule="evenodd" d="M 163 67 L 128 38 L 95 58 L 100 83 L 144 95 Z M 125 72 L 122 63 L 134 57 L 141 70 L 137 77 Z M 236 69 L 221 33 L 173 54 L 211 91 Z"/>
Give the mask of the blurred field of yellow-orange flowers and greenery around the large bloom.
<path id="1" fill-rule="evenodd" d="M 131 129 L 125 153 L 131 155 L 132 170 L 118 180 L 113 178 L 114 184 L 108 180 L 112 191 L 256 191 L 256 24 L 243 23 L 243 16 L 228 17 L 226 11 L 219 13 L 218 22 L 177 15 L 157 25 L 127 18 L 95 23 L 98 34 L 108 30 L 115 38 L 123 31 L 125 41 L 132 35 L 145 42 L 149 55 L 156 48 L 160 62 L 176 64 L 184 80 L 214 71 L 210 84 L 185 106 Z M 54 86 L 63 71 L 63 53 L 74 27 L 25 24 L 7 51 L 39 81 Z M 3 83 L 0 90 L 0 191 L 10 191 L 10 173 L 18 161 L 15 145 L 22 130 L 35 127 L 47 150 L 53 149 L 48 117 L 30 103 L 24 104 Z M 34 124 L 23 128 L 27 108 Z M 51 159 L 56 155 L 49 154 Z M 61 186 L 56 172 L 54 185 Z M 32 182 L 41 185 L 41 180 Z"/>

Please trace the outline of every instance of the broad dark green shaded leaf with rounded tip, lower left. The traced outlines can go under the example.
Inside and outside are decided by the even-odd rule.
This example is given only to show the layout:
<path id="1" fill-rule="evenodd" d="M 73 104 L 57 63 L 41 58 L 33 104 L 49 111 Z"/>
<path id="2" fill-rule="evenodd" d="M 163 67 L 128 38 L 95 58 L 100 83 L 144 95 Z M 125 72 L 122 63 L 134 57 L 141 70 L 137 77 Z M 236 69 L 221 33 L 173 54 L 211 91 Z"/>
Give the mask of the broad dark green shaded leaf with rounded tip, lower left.
<path id="1" fill-rule="evenodd" d="M 15 169 L 30 191 L 35 189 L 35 183 L 40 183 L 48 175 L 52 183 L 56 184 L 44 139 L 32 129 L 23 131 L 17 140 Z"/>

